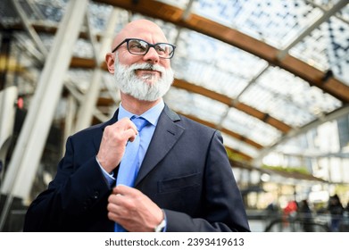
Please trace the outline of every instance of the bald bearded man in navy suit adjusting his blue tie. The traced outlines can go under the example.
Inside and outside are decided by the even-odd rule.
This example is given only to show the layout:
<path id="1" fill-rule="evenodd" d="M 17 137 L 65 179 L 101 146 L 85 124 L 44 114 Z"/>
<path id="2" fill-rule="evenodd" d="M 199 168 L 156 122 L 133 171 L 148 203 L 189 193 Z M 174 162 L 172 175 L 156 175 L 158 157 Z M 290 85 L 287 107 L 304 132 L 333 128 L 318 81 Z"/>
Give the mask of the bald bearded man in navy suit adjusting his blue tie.
<path id="1" fill-rule="evenodd" d="M 68 138 L 54 180 L 29 206 L 25 231 L 250 230 L 220 132 L 163 103 L 174 50 L 151 21 L 130 22 L 115 37 L 105 58 L 120 107 L 110 121 Z M 134 117 L 146 120 L 144 129 Z M 137 137 L 133 173 L 135 164 L 122 166 Z"/>

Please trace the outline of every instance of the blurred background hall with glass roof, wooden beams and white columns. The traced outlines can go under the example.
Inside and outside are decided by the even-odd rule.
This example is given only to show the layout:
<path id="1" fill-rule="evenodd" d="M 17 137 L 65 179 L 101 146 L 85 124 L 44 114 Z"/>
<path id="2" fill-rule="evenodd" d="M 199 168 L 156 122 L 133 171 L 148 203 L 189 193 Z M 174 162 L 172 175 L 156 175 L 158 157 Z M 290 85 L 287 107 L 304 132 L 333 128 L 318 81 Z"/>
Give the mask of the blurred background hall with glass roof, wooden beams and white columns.
<path id="1" fill-rule="evenodd" d="M 120 94 L 104 55 L 129 21 L 177 46 L 165 102 L 220 129 L 253 231 L 349 231 L 347 0 L 2 0 L 0 231 L 21 231 L 65 139 Z"/>

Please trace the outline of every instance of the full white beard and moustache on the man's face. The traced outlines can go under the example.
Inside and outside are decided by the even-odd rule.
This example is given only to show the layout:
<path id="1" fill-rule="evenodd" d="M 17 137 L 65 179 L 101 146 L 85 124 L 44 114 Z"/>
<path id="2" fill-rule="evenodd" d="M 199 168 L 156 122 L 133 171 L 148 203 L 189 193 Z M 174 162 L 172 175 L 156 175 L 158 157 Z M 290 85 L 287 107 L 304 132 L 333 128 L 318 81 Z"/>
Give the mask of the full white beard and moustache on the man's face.
<path id="1" fill-rule="evenodd" d="M 160 65 L 151 63 L 135 63 L 130 66 L 122 65 L 119 62 L 117 53 L 115 54 L 114 67 L 114 78 L 120 91 L 142 101 L 153 102 L 164 96 L 169 91 L 174 79 L 173 71 L 171 69 L 165 69 Z M 138 78 L 135 73 L 136 70 L 160 71 L 162 76 L 153 84 L 149 84 L 145 80 L 154 76 L 146 75 L 143 78 Z"/>

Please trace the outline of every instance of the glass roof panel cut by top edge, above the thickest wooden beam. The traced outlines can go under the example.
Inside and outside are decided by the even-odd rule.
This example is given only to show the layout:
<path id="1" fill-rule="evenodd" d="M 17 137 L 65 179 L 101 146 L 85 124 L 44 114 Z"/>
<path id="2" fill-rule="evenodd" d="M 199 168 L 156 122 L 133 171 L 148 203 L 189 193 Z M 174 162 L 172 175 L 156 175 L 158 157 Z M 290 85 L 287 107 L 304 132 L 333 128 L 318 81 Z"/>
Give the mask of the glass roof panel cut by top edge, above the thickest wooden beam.
<path id="1" fill-rule="evenodd" d="M 322 14 L 303 0 L 199 0 L 193 12 L 278 48 L 287 46 Z"/>

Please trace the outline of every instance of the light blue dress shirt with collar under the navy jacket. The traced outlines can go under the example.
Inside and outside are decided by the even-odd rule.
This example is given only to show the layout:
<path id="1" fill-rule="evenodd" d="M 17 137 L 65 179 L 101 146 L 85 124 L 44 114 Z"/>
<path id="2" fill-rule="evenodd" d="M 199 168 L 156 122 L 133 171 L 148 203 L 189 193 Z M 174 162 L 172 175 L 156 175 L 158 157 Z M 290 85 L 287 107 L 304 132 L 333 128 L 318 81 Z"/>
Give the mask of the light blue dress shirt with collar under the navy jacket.
<path id="1" fill-rule="evenodd" d="M 156 104 L 153 108 L 147 110 L 146 112 L 142 113 L 139 116 L 142 116 L 147 121 L 149 121 L 149 125 L 146 126 L 144 129 L 142 129 L 140 137 L 140 146 L 139 146 L 139 166 L 142 165 L 143 159 L 145 158 L 146 150 L 148 149 L 148 146 L 150 144 L 150 141 L 153 137 L 154 130 L 156 128 L 157 122 L 159 120 L 160 114 L 164 108 L 165 104 L 163 103 L 163 100 Z M 124 117 L 128 117 L 129 119 L 135 115 L 134 113 L 128 112 L 122 107 L 122 104 L 119 105 L 119 113 L 118 113 L 118 121 Z M 137 115 L 136 115 L 137 116 Z M 96 161 L 98 162 L 98 159 L 96 158 Z M 115 178 L 113 177 L 113 174 L 108 173 L 104 170 L 104 168 L 101 166 L 101 164 L 98 162 L 101 170 L 103 171 L 104 177 L 107 180 L 109 187 L 112 187 L 112 183 L 115 181 Z"/>

